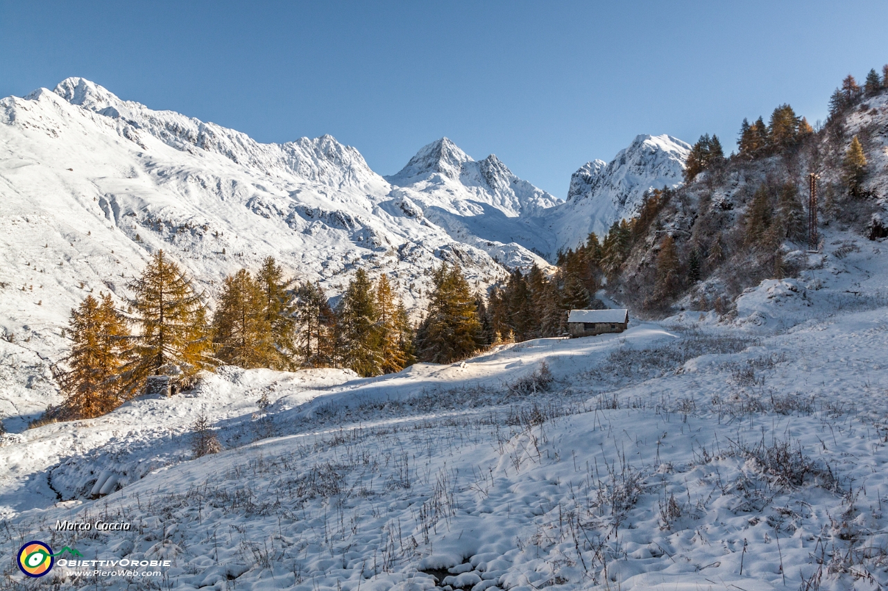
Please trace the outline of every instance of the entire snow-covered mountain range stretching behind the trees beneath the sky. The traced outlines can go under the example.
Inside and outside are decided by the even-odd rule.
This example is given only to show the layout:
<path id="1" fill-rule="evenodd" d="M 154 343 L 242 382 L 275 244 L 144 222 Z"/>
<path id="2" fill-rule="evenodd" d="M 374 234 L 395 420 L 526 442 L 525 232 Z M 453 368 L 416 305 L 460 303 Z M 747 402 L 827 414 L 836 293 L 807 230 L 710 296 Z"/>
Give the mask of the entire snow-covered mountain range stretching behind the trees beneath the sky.
<path id="1" fill-rule="evenodd" d="M 71 308 L 101 291 L 123 305 L 157 249 L 209 296 L 274 256 L 333 297 L 359 267 L 385 272 L 417 310 L 441 262 L 483 289 L 607 231 L 649 188 L 681 182 L 690 147 L 638 136 L 613 162 L 577 170 L 562 201 L 448 138 L 382 177 L 327 135 L 261 144 L 83 78 L 0 100 L 0 123 L 0 377 L 30 375 L 12 379 L 35 390 L 25 399 L 54 391 L 47 367 L 67 346 Z"/>

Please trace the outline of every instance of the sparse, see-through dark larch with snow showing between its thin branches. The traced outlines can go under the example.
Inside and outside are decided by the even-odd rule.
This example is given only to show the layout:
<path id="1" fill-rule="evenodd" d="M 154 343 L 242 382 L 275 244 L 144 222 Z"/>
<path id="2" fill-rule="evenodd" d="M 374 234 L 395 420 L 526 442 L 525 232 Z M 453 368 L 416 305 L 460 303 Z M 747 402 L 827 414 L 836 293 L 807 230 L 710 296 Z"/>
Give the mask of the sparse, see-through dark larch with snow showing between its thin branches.
<path id="1" fill-rule="evenodd" d="M 305 367 L 333 363 L 333 311 L 321 286 L 305 281 L 297 289 L 297 356 Z"/>

